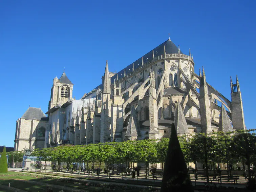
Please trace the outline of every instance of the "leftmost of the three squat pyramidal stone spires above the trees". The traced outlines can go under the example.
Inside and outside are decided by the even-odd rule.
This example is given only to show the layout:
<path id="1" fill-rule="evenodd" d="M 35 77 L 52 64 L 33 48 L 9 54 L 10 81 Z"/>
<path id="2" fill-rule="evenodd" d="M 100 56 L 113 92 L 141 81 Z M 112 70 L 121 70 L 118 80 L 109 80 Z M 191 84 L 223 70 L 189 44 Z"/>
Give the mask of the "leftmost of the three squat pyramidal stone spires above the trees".
<path id="1" fill-rule="evenodd" d="M 141 130 L 140 130 L 140 124 L 138 122 L 138 118 L 136 115 L 135 107 L 134 105 L 132 106 L 131 109 L 131 114 L 128 122 L 128 126 L 126 129 L 126 134 L 125 136 L 130 137 L 130 136 L 141 136 Z"/>

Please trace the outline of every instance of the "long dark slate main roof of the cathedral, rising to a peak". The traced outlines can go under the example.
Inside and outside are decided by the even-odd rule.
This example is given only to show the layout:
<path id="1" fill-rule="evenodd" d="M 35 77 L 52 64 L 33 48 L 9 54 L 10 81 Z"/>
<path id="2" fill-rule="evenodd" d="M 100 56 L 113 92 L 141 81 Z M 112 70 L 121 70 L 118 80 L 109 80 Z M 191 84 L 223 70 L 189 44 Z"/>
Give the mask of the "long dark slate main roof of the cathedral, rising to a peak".
<path id="1" fill-rule="evenodd" d="M 161 45 L 158 45 L 157 47 L 155 47 L 154 49 L 149 51 L 147 54 L 142 56 L 143 57 L 143 62 L 146 63 L 146 62 L 153 59 L 153 54 L 152 54 L 153 50 L 154 50 L 154 57 L 164 55 L 164 46 L 165 46 L 165 53 L 166 54 L 178 54 L 178 47 L 170 39 L 168 39 L 167 41 L 165 41 Z M 183 54 L 183 52 L 180 51 L 180 54 Z M 134 63 L 134 70 L 142 65 L 142 57 L 140 57 L 140 59 L 137 59 L 136 61 L 132 62 L 132 63 Z M 129 73 L 132 72 L 132 63 L 124 68 L 126 74 L 129 74 Z M 119 71 L 118 73 L 116 73 L 114 76 L 112 76 L 110 78 L 111 83 L 114 82 L 114 79 L 116 79 L 117 75 L 118 75 L 118 79 L 121 79 L 121 78 L 124 77 L 124 69 L 122 69 L 121 71 Z M 94 89 L 98 89 L 99 86 L 100 86 L 101 89 L 103 88 L 102 84 L 100 84 L 97 87 L 95 87 Z"/>

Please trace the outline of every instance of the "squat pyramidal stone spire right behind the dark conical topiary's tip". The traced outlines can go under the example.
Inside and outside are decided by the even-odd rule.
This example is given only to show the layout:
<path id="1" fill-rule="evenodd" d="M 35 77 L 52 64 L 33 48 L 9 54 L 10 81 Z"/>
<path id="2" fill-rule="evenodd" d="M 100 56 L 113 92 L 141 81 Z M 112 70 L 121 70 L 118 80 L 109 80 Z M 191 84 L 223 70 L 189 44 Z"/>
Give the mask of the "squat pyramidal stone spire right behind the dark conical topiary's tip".
<path id="1" fill-rule="evenodd" d="M 179 101 L 175 112 L 174 125 L 177 133 L 189 134 L 188 124 Z"/>

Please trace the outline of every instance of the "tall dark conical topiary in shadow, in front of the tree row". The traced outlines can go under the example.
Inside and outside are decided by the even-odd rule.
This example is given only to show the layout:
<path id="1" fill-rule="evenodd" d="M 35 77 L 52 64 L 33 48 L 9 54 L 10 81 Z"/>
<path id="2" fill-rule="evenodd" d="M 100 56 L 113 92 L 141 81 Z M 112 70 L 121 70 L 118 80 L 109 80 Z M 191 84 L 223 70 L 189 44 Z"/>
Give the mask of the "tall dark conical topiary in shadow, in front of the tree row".
<path id="1" fill-rule="evenodd" d="M 194 191 L 174 124 L 172 124 L 161 187 L 161 192 L 167 191 Z"/>

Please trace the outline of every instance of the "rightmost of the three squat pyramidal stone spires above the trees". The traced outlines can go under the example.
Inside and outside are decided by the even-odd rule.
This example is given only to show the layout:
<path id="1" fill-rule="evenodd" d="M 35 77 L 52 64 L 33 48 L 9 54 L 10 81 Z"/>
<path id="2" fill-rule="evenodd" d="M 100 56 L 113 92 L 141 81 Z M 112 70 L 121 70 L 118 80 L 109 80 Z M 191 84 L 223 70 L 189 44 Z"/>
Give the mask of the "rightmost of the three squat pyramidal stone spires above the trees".
<path id="1" fill-rule="evenodd" d="M 229 116 L 227 114 L 227 111 L 225 109 L 225 105 L 223 104 L 223 102 L 221 104 L 218 126 L 219 126 L 219 131 L 222 131 L 224 133 L 233 131 Z"/>

